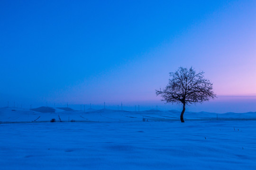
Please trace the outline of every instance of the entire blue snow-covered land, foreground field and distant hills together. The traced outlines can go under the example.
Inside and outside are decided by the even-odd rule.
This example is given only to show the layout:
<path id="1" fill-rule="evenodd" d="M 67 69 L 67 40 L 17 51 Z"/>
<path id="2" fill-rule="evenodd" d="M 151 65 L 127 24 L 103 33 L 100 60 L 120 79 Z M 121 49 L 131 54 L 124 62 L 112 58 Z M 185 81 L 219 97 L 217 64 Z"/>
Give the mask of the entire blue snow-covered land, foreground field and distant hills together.
<path id="1" fill-rule="evenodd" d="M 65 122 L 49 122 L 58 115 Z M 255 112 L 218 114 L 243 115 L 255 118 Z M 206 112 L 184 116 L 181 123 L 175 110 L 0 108 L 0 170 L 256 169 L 256 121 L 205 120 L 216 116 Z"/>

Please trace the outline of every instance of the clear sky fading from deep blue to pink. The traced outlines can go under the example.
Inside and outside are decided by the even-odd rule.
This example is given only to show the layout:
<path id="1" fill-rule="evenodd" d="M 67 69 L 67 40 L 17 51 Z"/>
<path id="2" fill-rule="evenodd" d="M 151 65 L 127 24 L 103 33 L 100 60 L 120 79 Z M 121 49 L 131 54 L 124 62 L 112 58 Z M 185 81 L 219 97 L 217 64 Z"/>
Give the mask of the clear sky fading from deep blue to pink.
<path id="1" fill-rule="evenodd" d="M 0 1 L 0 106 L 172 109 L 155 89 L 180 66 L 219 96 L 191 110 L 256 111 L 256 1 Z"/>

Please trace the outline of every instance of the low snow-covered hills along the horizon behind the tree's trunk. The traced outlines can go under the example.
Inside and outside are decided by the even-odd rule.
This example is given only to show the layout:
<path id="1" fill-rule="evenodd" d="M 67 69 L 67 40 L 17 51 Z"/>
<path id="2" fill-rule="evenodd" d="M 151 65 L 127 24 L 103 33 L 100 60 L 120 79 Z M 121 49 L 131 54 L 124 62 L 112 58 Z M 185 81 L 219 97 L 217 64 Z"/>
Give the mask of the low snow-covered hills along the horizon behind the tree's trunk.
<path id="1" fill-rule="evenodd" d="M 71 108 L 50 108 L 39 107 L 37 109 L 19 109 L 4 107 L 0 108 L 0 122 L 49 122 L 56 121 L 69 122 L 133 122 L 133 121 L 172 121 L 179 120 L 178 110 L 145 110 L 145 111 L 125 111 L 125 110 L 73 110 Z M 247 113 L 210 113 L 210 112 L 185 112 L 187 120 L 254 120 L 256 112 Z"/>

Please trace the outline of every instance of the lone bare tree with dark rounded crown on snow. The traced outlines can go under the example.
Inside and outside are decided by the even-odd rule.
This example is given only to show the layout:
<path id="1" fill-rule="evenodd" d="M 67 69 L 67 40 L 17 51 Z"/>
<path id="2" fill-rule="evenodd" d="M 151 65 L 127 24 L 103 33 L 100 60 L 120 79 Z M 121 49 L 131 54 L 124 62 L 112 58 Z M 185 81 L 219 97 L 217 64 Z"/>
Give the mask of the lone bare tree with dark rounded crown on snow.
<path id="1" fill-rule="evenodd" d="M 214 99 L 216 94 L 212 90 L 210 80 L 204 79 L 204 72 L 196 73 L 190 69 L 180 67 L 176 72 L 169 73 L 168 85 L 162 90 L 155 90 L 156 95 L 161 95 L 166 103 L 182 103 L 181 122 L 186 104 L 202 103 Z"/>

